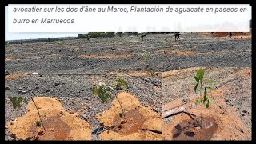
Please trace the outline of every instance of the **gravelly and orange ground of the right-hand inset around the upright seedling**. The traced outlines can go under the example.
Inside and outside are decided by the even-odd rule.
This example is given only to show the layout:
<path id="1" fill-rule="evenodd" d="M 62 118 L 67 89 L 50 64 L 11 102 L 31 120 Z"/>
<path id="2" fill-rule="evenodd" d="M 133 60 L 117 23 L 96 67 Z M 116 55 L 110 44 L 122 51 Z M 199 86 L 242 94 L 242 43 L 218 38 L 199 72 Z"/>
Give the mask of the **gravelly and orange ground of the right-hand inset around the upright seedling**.
<path id="1" fill-rule="evenodd" d="M 176 70 L 163 78 L 163 117 L 168 110 L 186 110 L 200 117 L 201 106 L 194 105 L 199 94 L 194 94 L 193 76 L 198 68 Z M 171 140 L 250 140 L 251 139 L 251 69 L 249 68 L 206 68 L 206 78 L 218 81 L 210 92 L 210 108 L 203 108 L 206 118 L 205 130 L 194 127 L 187 114 L 163 118 L 163 135 Z M 174 81 L 176 79 L 176 81 Z M 184 103 L 188 99 L 190 102 Z M 183 101 L 183 102 L 182 102 Z M 181 105 L 184 103 L 184 105 Z M 174 113 L 170 111 L 170 114 Z M 214 119 L 213 119 L 214 118 Z M 190 123 L 189 123 L 190 122 Z M 203 120 L 204 122 L 204 120 Z M 202 135 L 200 135 L 202 134 Z M 205 135 L 203 135 L 205 134 Z"/>

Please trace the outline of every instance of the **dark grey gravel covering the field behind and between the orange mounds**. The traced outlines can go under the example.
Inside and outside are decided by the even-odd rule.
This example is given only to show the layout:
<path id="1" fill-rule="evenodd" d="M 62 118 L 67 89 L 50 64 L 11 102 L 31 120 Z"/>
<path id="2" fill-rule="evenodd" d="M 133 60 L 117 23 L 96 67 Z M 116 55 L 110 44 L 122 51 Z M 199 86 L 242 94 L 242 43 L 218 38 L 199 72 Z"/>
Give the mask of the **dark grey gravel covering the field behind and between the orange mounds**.
<path id="1" fill-rule="evenodd" d="M 170 42 L 166 42 L 165 38 L 168 38 Z M 23 46 L 10 45 L 5 49 L 5 70 L 8 70 L 10 74 L 37 72 L 42 74 L 42 77 L 28 75 L 5 82 L 5 122 L 10 122 L 11 119 L 25 114 L 26 111 L 26 104 L 21 109 L 14 110 L 10 105 L 8 96 L 27 98 L 32 95 L 50 96 L 58 98 L 66 110 L 79 111 L 80 117 L 90 122 L 93 125 L 92 131 L 94 131 L 99 128 L 96 114 L 109 109 L 112 99 L 103 104 L 97 96 L 91 93 L 92 86 L 95 82 L 111 82 L 112 78 L 116 78 L 116 76 L 106 74 L 111 71 L 141 72 L 144 70 L 146 60 L 142 57 L 142 50 L 150 52 L 150 68 L 154 71 L 178 70 L 194 66 L 218 66 L 219 70 L 222 70 L 221 67 L 251 66 L 250 38 L 211 38 L 210 35 L 202 36 L 200 34 L 182 34 L 181 38 L 181 41 L 174 42 L 173 34 L 159 34 L 147 35 L 143 42 L 139 37 L 134 36 L 134 38 L 91 38 L 90 42 L 84 39 L 66 40 L 63 41 L 63 45 L 58 44 L 58 42 L 24 43 Z M 192 51 L 195 54 L 168 54 L 172 64 L 170 66 L 165 54 L 163 54 L 164 50 Z M 131 56 L 122 58 L 79 57 L 81 55 L 117 54 L 131 54 Z M 224 73 L 229 74 L 223 70 L 223 73 L 220 72 L 220 74 L 215 74 L 212 77 L 224 78 L 225 76 L 222 76 Z M 94 76 L 93 74 L 106 75 Z M 151 106 L 159 114 L 161 114 L 162 104 L 171 101 L 170 98 L 165 97 L 165 93 L 154 90 L 155 86 L 158 88 L 165 87 L 162 84 L 165 80 L 162 78 L 132 76 L 125 76 L 124 78 L 129 84 L 125 90 L 138 97 L 143 106 Z M 170 79 L 169 81 L 176 82 L 175 85 L 177 86 L 185 86 L 184 89 L 186 89 L 186 85 L 182 85 L 182 82 L 177 81 L 177 79 Z M 239 80 L 235 82 L 239 82 Z M 190 84 L 192 85 L 192 83 Z M 175 97 L 184 95 L 182 90 L 171 89 L 167 90 L 172 91 Z M 238 94 L 242 94 L 242 91 Z M 230 95 L 230 105 L 242 102 L 236 96 L 236 94 Z M 240 99 L 247 101 L 242 97 Z M 250 104 L 250 102 L 248 103 Z M 238 110 L 238 113 L 241 115 L 250 114 L 249 104 L 241 103 L 242 111 Z M 6 129 L 6 140 L 12 139 L 8 131 Z M 98 135 L 93 134 L 93 139 L 97 140 Z"/>

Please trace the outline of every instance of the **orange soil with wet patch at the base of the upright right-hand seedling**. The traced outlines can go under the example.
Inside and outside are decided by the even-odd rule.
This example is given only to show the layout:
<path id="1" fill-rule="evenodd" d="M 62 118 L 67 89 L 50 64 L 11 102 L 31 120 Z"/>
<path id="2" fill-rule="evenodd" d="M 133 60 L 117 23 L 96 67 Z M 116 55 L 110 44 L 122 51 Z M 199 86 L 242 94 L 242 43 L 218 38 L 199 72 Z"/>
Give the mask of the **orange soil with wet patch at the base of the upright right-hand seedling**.
<path id="1" fill-rule="evenodd" d="M 242 139 L 251 139 L 250 134 L 251 130 L 247 130 L 244 123 L 238 118 L 238 115 L 235 112 L 233 107 L 226 105 L 226 102 L 223 98 L 223 92 L 217 90 L 214 93 L 209 93 L 210 97 L 213 99 L 212 103 L 208 109 L 203 108 L 202 118 L 214 118 L 213 125 L 217 127 L 217 130 L 200 130 L 197 129 L 197 126 L 193 126 L 192 119 L 187 114 L 178 114 L 171 116 L 172 119 L 163 124 L 163 135 L 165 139 L 168 140 L 242 140 Z M 192 99 L 190 102 L 180 106 L 188 110 L 190 113 L 200 117 L 201 106 L 195 106 L 194 102 L 196 98 Z M 163 110 L 169 110 L 171 107 L 178 106 L 182 103 L 182 99 L 178 99 L 174 102 L 170 102 L 163 106 Z M 171 106 L 171 107 L 170 107 Z M 197 117 L 197 118 L 198 118 Z M 190 122 L 190 123 L 189 123 Z M 210 122 L 210 120 L 208 120 Z M 175 130 L 175 127 L 186 127 L 186 131 L 182 134 L 181 130 Z M 180 128 L 182 129 L 182 128 Z M 187 132 L 187 134 L 185 134 Z M 201 132 L 201 133 L 200 133 Z M 208 133 L 208 135 L 206 135 Z M 210 133 L 210 134 L 209 134 Z M 205 134 L 205 135 L 203 135 Z"/>

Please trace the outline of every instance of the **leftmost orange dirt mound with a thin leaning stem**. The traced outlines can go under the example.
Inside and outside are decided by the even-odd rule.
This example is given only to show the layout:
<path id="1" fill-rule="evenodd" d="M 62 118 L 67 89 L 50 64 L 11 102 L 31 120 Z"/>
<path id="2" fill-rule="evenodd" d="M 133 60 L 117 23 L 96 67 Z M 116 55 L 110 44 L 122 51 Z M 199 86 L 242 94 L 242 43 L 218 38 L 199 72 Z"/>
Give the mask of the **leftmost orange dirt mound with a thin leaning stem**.
<path id="1" fill-rule="evenodd" d="M 8 122 L 7 126 L 10 132 L 16 138 L 38 139 L 38 140 L 90 140 L 90 124 L 81 118 L 78 114 L 70 114 L 64 110 L 62 104 L 55 98 L 36 97 L 34 102 L 38 106 L 42 117 L 42 125 L 36 126 L 39 121 L 37 109 L 33 102 L 26 106 L 26 114 Z"/>

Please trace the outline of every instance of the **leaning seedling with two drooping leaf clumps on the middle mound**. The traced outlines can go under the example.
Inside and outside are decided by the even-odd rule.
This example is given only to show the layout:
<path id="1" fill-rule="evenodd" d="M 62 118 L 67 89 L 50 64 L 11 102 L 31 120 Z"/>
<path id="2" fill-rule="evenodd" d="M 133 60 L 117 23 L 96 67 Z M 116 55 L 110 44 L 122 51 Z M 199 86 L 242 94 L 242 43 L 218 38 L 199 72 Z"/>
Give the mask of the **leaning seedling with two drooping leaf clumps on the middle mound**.
<path id="1" fill-rule="evenodd" d="M 98 97 L 101 99 L 102 103 L 108 102 L 108 100 L 110 99 L 110 96 L 112 94 L 114 94 L 115 98 L 117 98 L 118 103 L 121 107 L 122 116 L 126 119 L 126 116 L 122 109 L 121 102 L 119 101 L 119 99 L 116 95 L 116 92 L 118 90 L 122 90 L 122 86 L 127 88 L 128 84 L 123 78 L 116 78 L 113 81 L 114 81 L 114 86 L 107 86 L 105 83 L 99 82 L 98 86 L 93 87 L 92 92 L 94 95 L 98 95 Z M 119 114 L 119 117 L 122 118 L 120 114 Z M 127 120 L 126 120 L 126 122 L 127 122 Z"/>

